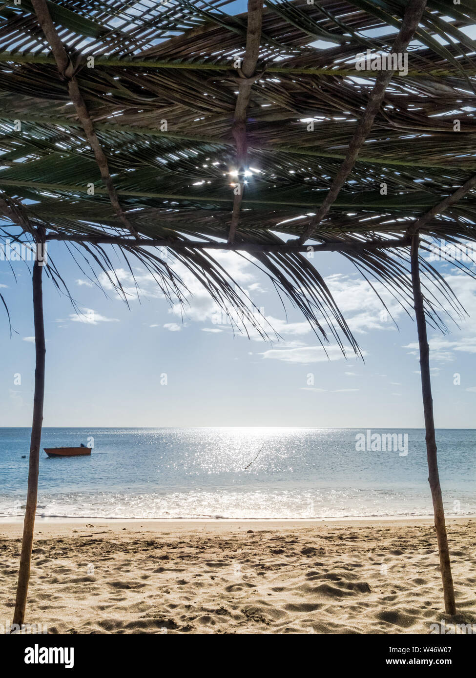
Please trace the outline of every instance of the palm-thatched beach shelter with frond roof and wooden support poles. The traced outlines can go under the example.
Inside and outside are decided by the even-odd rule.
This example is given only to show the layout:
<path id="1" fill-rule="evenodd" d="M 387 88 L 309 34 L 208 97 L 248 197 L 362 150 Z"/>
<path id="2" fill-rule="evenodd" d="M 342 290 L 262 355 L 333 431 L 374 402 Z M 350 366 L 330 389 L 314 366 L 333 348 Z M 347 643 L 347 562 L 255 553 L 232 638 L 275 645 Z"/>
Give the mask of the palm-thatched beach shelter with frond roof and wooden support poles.
<path id="1" fill-rule="evenodd" d="M 426 323 L 444 330 L 445 313 L 461 309 L 419 252 L 433 238 L 476 239 L 476 43 L 468 35 L 475 5 L 249 0 L 248 12 L 230 16 L 229 4 L 3 3 L 0 212 L 12 226 L 1 233 L 39 246 L 64 241 L 91 275 L 113 275 L 115 247 L 180 298 L 182 283 L 158 254 L 166 247 L 225 309 L 247 301 L 213 250 L 238 251 L 304 313 L 318 340 L 343 350 L 344 342 L 359 348 L 306 256 L 310 247 L 340 252 L 370 283 L 414 306 L 453 614 Z M 378 57 L 389 53 L 401 62 L 387 59 L 382 70 Z M 64 289 L 53 262 L 35 262 L 37 371 L 16 623 L 24 619 L 36 506 L 42 268 Z M 256 322 L 266 334 L 266 322 Z"/>

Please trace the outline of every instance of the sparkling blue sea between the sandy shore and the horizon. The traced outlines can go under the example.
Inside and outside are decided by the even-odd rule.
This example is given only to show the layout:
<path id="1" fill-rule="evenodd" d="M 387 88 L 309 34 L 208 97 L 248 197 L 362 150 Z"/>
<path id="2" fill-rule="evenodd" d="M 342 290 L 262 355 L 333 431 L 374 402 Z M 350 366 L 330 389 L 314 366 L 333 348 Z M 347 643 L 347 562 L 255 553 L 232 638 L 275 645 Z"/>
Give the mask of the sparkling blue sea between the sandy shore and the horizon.
<path id="1" fill-rule="evenodd" d="M 350 428 L 44 428 L 42 447 L 94 444 L 90 457 L 41 453 L 43 517 L 344 518 L 431 515 L 424 431 L 408 454 L 356 450 Z M 0 428 L 0 517 L 22 515 L 28 428 Z M 476 431 L 437 433 L 449 515 L 476 515 Z M 366 443 L 365 443 L 366 447 Z M 22 455 L 26 454 L 26 459 Z"/>

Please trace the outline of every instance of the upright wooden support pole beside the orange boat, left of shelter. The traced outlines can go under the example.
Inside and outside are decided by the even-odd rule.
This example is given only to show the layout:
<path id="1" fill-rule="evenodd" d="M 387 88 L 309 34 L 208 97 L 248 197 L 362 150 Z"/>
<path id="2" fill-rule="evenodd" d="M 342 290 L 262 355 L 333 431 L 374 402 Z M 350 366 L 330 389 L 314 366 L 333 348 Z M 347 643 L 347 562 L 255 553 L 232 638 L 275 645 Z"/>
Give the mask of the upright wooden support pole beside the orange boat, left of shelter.
<path id="1" fill-rule="evenodd" d="M 41 245 L 39 245 L 41 246 Z M 28 492 L 23 524 L 22 553 L 18 570 L 18 585 L 13 623 L 23 624 L 26 596 L 30 581 L 31 549 L 33 530 L 37 510 L 39 451 L 41 444 L 41 425 L 43 423 L 43 399 L 45 394 L 45 327 L 43 321 L 43 289 L 41 273 L 43 266 L 38 257 L 33 264 L 33 317 L 35 323 L 35 395 L 33 397 L 33 422 L 31 425 L 30 464 L 28 472 Z"/>

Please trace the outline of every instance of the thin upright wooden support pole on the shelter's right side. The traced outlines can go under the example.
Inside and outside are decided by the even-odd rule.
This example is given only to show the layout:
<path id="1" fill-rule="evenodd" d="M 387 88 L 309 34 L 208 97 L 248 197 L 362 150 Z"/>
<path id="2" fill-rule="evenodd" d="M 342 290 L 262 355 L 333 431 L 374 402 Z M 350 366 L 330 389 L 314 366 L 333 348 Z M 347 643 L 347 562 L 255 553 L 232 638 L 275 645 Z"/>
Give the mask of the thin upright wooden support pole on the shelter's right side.
<path id="1" fill-rule="evenodd" d="M 420 344 L 420 372 L 422 376 L 423 412 L 425 419 L 426 458 L 428 461 L 428 483 L 431 487 L 433 513 L 435 515 L 435 530 L 437 532 L 439 565 L 443 582 L 445 611 L 447 614 L 456 614 L 454 601 L 453 578 L 451 574 L 450 552 L 445 525 L 445 511 L 443 497 L 439 483 L 437 443 L 435 440 L 435 420 L 433 418 L 433 397 L 431 395 L 430 376 L 430 348 L 426 334 L 426 319 L 424 301 L 420 283 L 420 266 L 418 264 L 419 236 L 416 233 L 411 239 L 411 284 L 413 286 L 416 325 L 418 328 L 418 343 Z"/>

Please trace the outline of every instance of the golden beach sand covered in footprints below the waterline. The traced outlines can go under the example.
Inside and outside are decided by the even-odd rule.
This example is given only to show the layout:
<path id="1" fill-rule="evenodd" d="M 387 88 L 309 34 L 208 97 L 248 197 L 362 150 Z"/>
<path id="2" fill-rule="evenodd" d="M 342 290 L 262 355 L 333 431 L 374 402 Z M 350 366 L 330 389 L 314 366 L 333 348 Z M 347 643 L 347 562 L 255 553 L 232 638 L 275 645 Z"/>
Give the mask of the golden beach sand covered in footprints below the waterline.
<path id="1" fill-rule="evenodd" d="M 476 520 L 447 521 L 458 618 L 476 622 Z M 21 523 L 0 523 L 0 621 Z M 435 530 L 391 521 L 37 521 L 26 622 L 48 633 L 429 633 Z"/>

